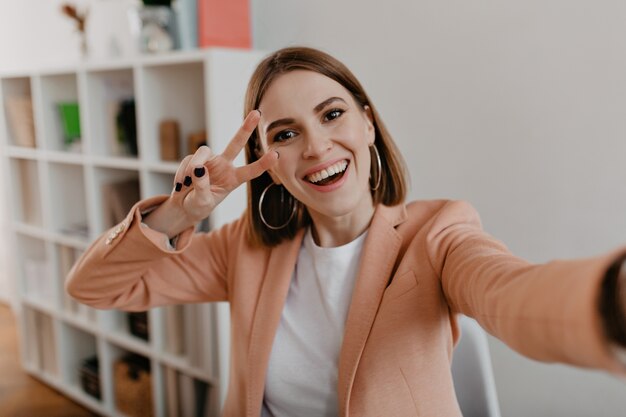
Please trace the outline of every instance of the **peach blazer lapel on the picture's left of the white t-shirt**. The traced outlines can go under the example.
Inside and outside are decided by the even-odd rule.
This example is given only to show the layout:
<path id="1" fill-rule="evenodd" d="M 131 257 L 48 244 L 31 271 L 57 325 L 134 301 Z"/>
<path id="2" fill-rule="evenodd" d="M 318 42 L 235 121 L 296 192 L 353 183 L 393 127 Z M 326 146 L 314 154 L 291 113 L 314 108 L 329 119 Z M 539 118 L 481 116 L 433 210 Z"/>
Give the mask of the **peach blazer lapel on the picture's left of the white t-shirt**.
<path id="1" fill-rule="evenodd" d="M 248 346 L 248 370 L 250 372 L 250 385 L 246 398 L 248 416 L 258 417 L 261 414 L 270 352 L 303 236 L 304 230 L 300 230 L 294 239 L 273 248 L 270 253 Z"/>

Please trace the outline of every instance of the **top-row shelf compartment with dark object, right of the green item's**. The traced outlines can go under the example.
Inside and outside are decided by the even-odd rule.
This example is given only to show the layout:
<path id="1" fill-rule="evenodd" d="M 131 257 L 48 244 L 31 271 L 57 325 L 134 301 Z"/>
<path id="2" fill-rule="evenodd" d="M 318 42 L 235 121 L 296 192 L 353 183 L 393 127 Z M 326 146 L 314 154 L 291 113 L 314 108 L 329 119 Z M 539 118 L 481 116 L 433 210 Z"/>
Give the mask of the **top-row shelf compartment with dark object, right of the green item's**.
<path id="1" fill-rule="evenodd" d="M 92 71 L 87 74 L 89 145 L 93 154 L 137 157 L 135 82 L 132 68 Z M 118 124 L 119 122 L 123 124 Z M 120 142 L 118 131 L 134 129 L 134 140 Z"/>

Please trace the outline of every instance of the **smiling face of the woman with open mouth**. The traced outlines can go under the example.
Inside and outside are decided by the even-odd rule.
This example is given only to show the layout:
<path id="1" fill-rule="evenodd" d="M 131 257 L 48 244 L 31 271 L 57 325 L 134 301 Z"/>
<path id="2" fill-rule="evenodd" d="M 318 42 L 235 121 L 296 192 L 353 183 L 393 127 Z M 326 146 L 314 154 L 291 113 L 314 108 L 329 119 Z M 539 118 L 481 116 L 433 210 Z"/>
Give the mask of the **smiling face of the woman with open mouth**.
<path id="1" fill-rule="evenodd" d="M 280 159 L 274 182 L 316 214 L 340 217 L 372 213 L 370 153 L 375 132 L 364 109 L 341 84 L 313 71 L 279 76 L 259 105 L 264 152 Z"/>

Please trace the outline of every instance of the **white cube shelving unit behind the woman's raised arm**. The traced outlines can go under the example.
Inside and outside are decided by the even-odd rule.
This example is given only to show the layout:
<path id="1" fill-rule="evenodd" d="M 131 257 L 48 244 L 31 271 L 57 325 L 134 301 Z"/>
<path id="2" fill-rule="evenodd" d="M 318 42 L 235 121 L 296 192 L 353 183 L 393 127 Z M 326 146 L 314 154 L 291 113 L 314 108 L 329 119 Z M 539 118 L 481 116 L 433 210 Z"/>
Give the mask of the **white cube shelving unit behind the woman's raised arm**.
<path id="1" fill-rule="evenodd" d="M 127 313 L 79 305 L 63 285 L 89 242 L 113 226 L 104 192 L 109 184 L 134 179 L 141 198 L 171 191 L 178 164 L 160 159 L 160 121 L 178 121 L 181 155 L 188 134 L 201 130 L 212 148 L 223 150 L 241 123 L 245 87 L 261 58 L 256 51 L 206 49 L 0 74 L 0 166 L 8 179 L 3 200 L 9 203 L 22 364 L 98 414 L 124 415 L 116 406 L 114 364 L 128 353 L 149 361 L 155 416 L 184 415 L 190 410 L 182 407 L 197 403 L 194 392 L 201 389 L 209 398 L 204 414 L 219 414 L 228 378 L 227 305 L 152 309 L 144 340 L 131 334 Z M 26 115 L 34 121 L 32 146 L 24 145 L 23 126 L 9 109 L 15 99 L 32 103 Z M 115 139 L 116 111 L 128 99 L 135 103 L 136 156 Z M 65 144 L 60 102 L 79 104 L 80 147 Z M 244 206 L 241 187 L 211 215 L 210 227 L 237 217 Z M 81 365 L 93 357 L 99 399 L 81 386 Z"/>

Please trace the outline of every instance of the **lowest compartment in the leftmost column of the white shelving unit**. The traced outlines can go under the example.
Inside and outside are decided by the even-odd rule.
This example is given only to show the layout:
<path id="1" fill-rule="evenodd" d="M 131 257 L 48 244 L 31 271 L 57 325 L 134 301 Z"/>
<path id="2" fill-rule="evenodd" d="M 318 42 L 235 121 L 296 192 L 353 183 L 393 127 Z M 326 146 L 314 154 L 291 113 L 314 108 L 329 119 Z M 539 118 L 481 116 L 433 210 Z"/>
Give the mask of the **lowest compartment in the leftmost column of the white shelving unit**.
<path id="1" fill-rule="evenodd" d="M 41 372 L 51 379 L 59 377 L 56 335 L 53 318 L 41 311 L 24 307 L 24 362 L 29 368 Z"/>

